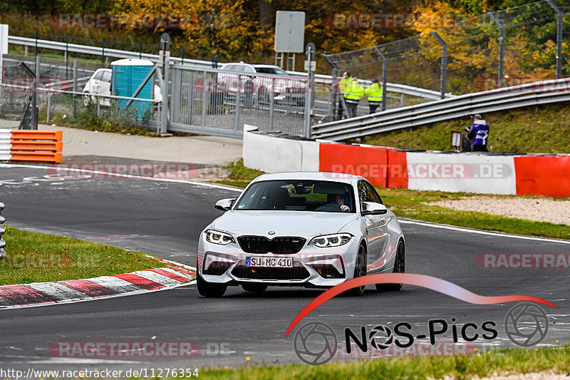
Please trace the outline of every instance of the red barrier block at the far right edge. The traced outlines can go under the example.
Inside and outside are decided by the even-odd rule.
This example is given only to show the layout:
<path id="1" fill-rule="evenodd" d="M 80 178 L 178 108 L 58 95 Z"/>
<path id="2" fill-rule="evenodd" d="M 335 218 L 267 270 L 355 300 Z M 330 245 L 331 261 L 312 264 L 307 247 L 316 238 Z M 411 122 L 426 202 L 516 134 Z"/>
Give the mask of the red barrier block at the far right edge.
<path id="1" fill-rule="evenodd" d="M 570 196 L 570 157 L 515 157 L 514 171 L 517 195 Z"/>

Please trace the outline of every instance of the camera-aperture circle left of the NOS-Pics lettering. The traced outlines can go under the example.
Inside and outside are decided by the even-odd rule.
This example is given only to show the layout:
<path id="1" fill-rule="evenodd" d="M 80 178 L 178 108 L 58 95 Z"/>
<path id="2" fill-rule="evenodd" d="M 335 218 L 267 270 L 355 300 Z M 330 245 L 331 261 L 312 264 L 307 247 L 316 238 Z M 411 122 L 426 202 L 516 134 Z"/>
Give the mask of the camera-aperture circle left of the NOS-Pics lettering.
<path id="1" fill-rule="evenodd" d="M 293 348 L 301 361 L 320 366 L 333 359 L 338 349 L 338 339 L 328 324 L 309 322 L 295 333 Z"/>

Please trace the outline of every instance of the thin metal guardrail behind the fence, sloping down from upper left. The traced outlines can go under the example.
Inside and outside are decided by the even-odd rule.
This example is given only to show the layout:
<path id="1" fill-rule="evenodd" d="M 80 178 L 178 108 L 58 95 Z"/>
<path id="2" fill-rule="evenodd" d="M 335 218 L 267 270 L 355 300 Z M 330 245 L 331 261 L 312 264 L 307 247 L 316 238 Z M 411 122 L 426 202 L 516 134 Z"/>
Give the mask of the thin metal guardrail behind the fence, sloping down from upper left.
<path id="1" fill-rule="evenodd" d="M 113 48 L 103 48 L 100 46 L 88 46 L 88 45 L 78 45 L 76 43 L 65 43 L 58 41 L 48 41 L 36 38 L 26 38 L 20 36 L 9 36 L 8 43 L 14 43 L 14 45 L 21 46 L 31 46 L 35 47 L 36 43 L 38 48 L 48 48 L 51 50 L 58 51 L 71 51 L 73 53 L 83 53 L 92 54 L 93 56 L 109 56 L 115 58 L 144 58 L 152 62 L 158 62 L 160 60 L 157 54 L 149 53 L 139 53 L 136 51 L 126 51 L 118 50 Z M 197 59 L 181 58 L 181 57 L 170 57 L 170 63 L 175 65 L 184 66 L 194 66 L 194 68 L 212 68 L 212 62 L 210 61 L 200 61 Z M 222 63 L 220 63 L 222 64 Z M 287 73 L 292 76 L 306 77 L 307 73 L 300 71 L 287 71 Z M 323 74 L 316 74 L 315 82 L 319 84 L 332 85 L 332 77 Z M 363 84 L 370 85 L 370 81 L 361 81 Z M 393 93 L 400 93 L 408 96 L 417 96 L 418 98 L 425 98 L 429 100 L 437 100 L 441 98 L 441 94 L 438 91 L 427 90 L 426 88 L 418 88 L 413 86 L 406 86 L 398 83 L 388 83 L 387 91 Z M 451 96 L 451 94 L 448 94 Z"/>

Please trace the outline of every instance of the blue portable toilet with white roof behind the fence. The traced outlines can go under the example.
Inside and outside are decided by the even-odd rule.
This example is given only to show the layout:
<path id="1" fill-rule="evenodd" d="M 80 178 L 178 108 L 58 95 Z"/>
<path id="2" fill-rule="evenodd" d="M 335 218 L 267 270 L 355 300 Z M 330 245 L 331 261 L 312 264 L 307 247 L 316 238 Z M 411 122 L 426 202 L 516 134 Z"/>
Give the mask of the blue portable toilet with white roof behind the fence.
<path id="1" fill-rule="evenodd" d="M 118 61 L 111 62 L 113 68 L 113 83 L 115 86 L 114 95 L 117 96 L 133 96 L 140 83 L 146 78 L 154 63 L 147 59 L 126 58 Z M 145 86 L 138 93 L 137 98 L 152 99 L 153 97 L 152 78 L 150 78 Z M 120 110 L 125 109 L 128 100 L 119 99 L 118 106 Z M 142 115 L 150 108 L 152 103 L 133 101 L 129 108 L 135 110 L 137 118 L 142 118 Z"/>

